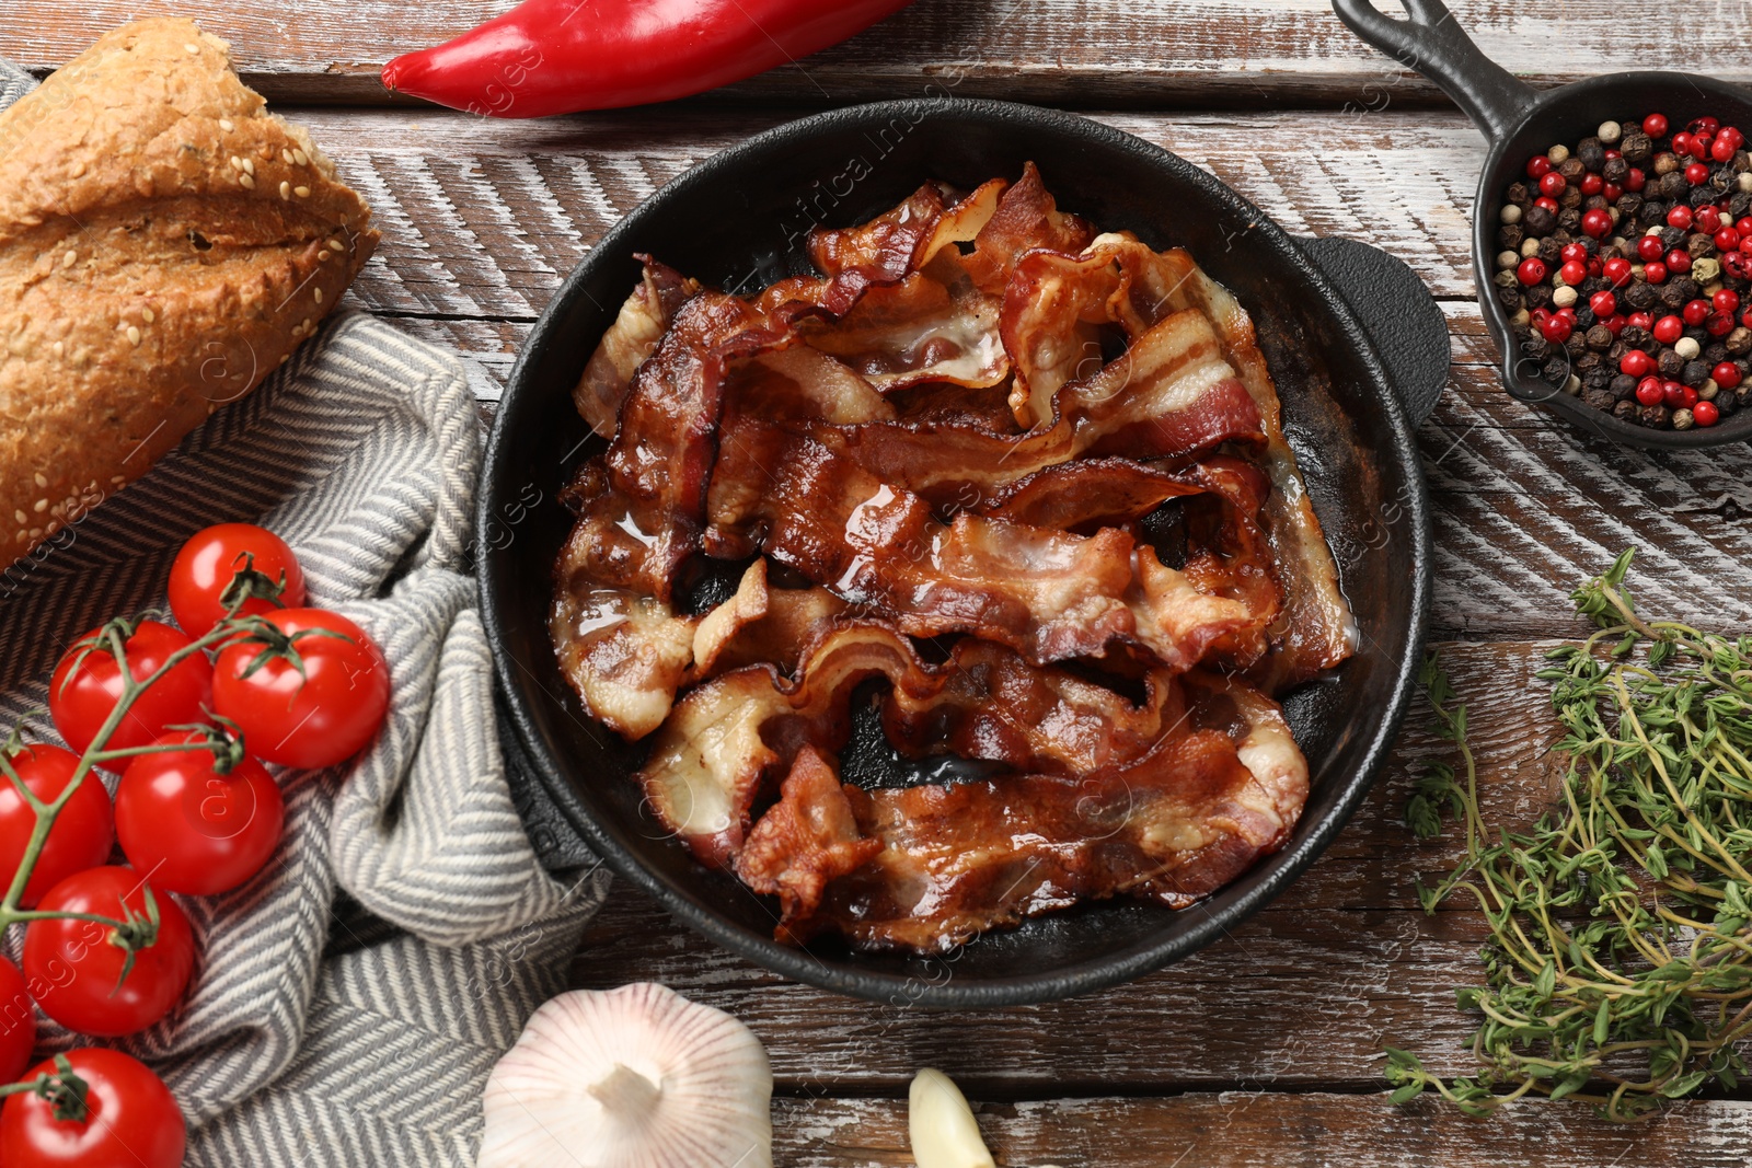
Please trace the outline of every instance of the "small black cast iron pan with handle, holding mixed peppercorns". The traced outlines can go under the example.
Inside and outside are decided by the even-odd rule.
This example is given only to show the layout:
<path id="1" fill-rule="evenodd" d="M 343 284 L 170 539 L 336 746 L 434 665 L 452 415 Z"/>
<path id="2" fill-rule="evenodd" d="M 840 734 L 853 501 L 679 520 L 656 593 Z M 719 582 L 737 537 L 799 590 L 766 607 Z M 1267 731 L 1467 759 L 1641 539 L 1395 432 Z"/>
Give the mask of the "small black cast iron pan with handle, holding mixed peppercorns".
<path id="1" fill-rule="evenodd" d="M 1538 376 L 1533 361 L 1521 357 L 1508 313 L 1489 294 L 1503 193 L 1524 175 L 1528 158 L 1544 154 L 1559 142 L 1573 145 L 1593 135 L 1600 123 L 1631 114 L 1642 117 L 1659 112 L 1680 126 L 1713 114 L 1722 124 L 1752 126 L 1752 93 L 1713 77 L 1675 72 L 1608 74 L 1538 91 L 1479 53 L 1442 0 L 1402 4 L 1410 16 L 1407 21 L 1382 14 L 1370 0 L 1332 0 L 1339 19 L 1351 32 L 1440 86 L 1489 144 L 1473 205 L 1472 273 L 1484 322 L 1503 354 L 1503 387 L 1521 401 L 1545 406 L 1584 431 L 1633 447 L 1684 450 L 1752 438 L 1752 410 L 1741 410 L 1710 427 L 1657 431 L 1621 422 L 1580 398 L 1554 389 Z"/>

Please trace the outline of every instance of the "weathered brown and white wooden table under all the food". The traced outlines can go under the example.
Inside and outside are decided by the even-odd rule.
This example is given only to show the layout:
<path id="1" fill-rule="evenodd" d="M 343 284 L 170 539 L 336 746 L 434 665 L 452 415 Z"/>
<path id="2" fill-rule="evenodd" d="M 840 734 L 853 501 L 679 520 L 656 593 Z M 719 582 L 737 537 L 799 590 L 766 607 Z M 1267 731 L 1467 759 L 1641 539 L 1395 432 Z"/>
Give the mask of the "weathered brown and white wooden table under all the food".
<path id="1" fill-rule="evenodd" d="M 1501 392 L 1473 303 L 1468 219 L 1479 135 L 1424 81 L 1354 40 L 1326 0 L 922 0 L 801 67 L 668 109 L 489 123 L 392 105 L 389 56 L 461 32 L 501 0 L 11 0 L 0 54 L 47 70 L 130 16 L 198 16 L 245 77 L 310 126 L 371 201 L 384 245 L 350 301 L 468 359 L 491 413 L 559 278 L 659 184 L 823 105 L 958 95 L 1077 107 L 1211 168 L 1284 228 L 1347 235 L 1410 263 L 1454 340 L 1419 445 L 1437 515 L 1433 639 L 1465 699 L 1489 811 L 1529 821 L 1554 779 L 1542 683 L 1573 636 L 1568 592 L 1628 545 L 1650 611 L 1752 630 L 1752 457 L 1649 455 L 1577 436 Z M 1459 0 L 1480 47 L 1537 84 L 1668 65 L 1752 79 L 1738 4 Z M 1659 53 L 1661 56 L 1656 56 Z M 291 109 L 321 103 L 322 109 Z M 1617 112 L 1617 110 L 1614 110 Z M 1624 1129 L 1524 1103 L 1470 1121 L 1393 1108 L 1382 1045 L 1468 1070 L 1473 912 L 1417 911 L 1412 877 L 1449 863 L 1400 825 L 1410 725 L 1361 813 L 1232 939 L 1132 986 L 1032 1009 L 930 1014 L 788 984 L 622 888 L 575 967 L 582 986 L 662 981 L 732 1010 L 778 1079 L 787 1166 L 908 1164 L 920 1066 L 981 1101 L 1004 1164 L 1738 1164 L 1752 1094 Z"/>

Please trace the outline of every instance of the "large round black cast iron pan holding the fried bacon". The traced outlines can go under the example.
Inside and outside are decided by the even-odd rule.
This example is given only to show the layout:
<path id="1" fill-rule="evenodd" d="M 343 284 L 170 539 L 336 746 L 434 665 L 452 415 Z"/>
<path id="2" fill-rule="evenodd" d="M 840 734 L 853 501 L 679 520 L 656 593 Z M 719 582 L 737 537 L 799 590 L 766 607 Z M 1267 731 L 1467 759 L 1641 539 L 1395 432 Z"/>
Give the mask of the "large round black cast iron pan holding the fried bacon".
<path id="1" fill-rule="evenodd" d="M 571 517 L 554 499 L 578 461 L 601 450 L 573 410 L 571 387 L 638 278 L 634 252 L 722 287 L 753 289 L 808 270 L 802 245 L 816 222 L 864 221 L 927 179 L 971 189 L 993 175 L 1014 177 L 1028 159 L 1062 207 L 1104 229 L 1137 231 L 1153 247 L 1190 247 L 1251 310 L 1363 630 L 1361 650 L 1286 702 L 1314 776 L 1293 839 L 1207 902 L 1183 912 L 1127 900 L 1084 905 L 988 933 L 948 958 L 855 953 L 827 940 L 781 946 L 773 940 L 776 905 L 706 870 L 668 835 L 627 779 L 641 749 L 596 725 L 555 665 L 550 573 Z M 997 1007 L 1063 998 L 1160 968 L 1235 928 L 1319 855 L 1368 790 L 1410 697 L 1430 608 L 1430 510 L 1393 387 L 1416 394 L 1424 410 L 1433 405 L 1447 375 L 1447 331 L 1403 264 L 1342 243 L 1307 247 L 1339 278 L 1367 289 L 1395 371 L 1310 250 L 1258 208 L 1167 151 L 1069 114 L 962 100 L 834 110 L 762 133 L 653 194 L 547 306 L 512 369 L 487 447 L 482 613 L 512 753 L 520 746 L 527 755 L 531 774 L 513 783 L 533 835 L 552 848 L 554 835 L 576 832 L 715 942 L 785 977 L 878 1002 Z M 918 776 L 878 776 L 909 777 Z"/>

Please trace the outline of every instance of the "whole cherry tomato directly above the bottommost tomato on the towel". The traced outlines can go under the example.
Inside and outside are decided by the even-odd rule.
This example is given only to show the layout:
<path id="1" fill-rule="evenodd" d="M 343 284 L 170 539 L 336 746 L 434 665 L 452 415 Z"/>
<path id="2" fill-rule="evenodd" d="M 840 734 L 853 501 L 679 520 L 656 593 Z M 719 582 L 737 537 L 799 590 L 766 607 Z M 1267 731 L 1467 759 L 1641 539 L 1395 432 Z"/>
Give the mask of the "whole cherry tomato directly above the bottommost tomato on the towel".
<path id="1" fill-rule="evenodd" d="M 68 918 L 25 926 L 25 974 L 40 991 L 37 1003 L 44 1014 L 82 1035 L 112 1038 L 145 1030 L 182 998 L 194 972 L 194 933 L 175 900 L 151 891 L 158 907 L 156 937 L 135 951 L 126 977 L 128 954 L 112 940 L 114 928 Z M 86 869 L 51 888 L 40 907 L 98 912 L 149 928 L 145 893 L 147 883 L 133 869 Z"/>

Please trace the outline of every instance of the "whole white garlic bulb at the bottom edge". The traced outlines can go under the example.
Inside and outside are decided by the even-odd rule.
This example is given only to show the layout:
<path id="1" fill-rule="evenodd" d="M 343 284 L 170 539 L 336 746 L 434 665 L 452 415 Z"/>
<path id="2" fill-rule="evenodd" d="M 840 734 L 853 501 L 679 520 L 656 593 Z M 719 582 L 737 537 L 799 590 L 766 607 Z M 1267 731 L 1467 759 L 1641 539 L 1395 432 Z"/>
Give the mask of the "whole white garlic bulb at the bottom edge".
<path id="1" fill-rule="evenodd" d="M 492 1068 L 477 1168 L 773 1168 L 771 1100 L 729 1014 L 650 982 L 575 989 Z"/>

